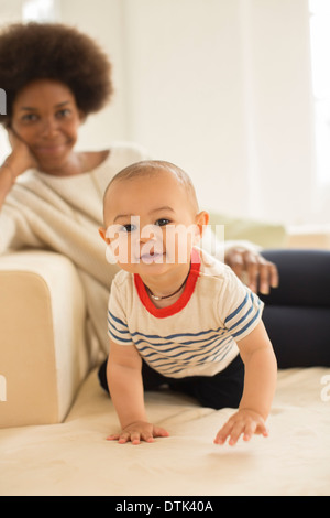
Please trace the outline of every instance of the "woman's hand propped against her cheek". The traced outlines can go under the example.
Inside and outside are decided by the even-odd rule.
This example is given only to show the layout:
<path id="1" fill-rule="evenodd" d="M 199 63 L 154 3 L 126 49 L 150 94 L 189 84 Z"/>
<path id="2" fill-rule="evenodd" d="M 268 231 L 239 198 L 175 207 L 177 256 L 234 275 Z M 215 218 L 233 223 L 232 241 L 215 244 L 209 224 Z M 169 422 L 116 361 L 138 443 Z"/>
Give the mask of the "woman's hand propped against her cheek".
<path id="1" fill-rule="evenodd" d="M 37 168 L 37 161 L 28 144 L 11 128 L 8 129 L 8 137 L 12 152 L 6 159 L 6 164 L 11 169 L 14 179 L 28 169 Z"/>

